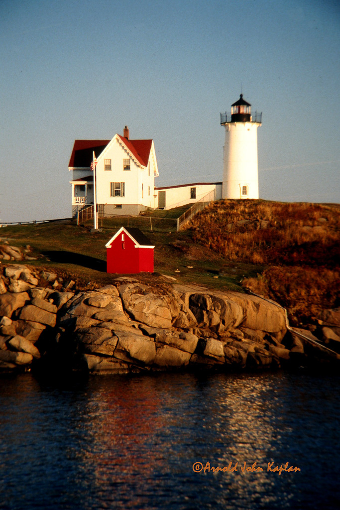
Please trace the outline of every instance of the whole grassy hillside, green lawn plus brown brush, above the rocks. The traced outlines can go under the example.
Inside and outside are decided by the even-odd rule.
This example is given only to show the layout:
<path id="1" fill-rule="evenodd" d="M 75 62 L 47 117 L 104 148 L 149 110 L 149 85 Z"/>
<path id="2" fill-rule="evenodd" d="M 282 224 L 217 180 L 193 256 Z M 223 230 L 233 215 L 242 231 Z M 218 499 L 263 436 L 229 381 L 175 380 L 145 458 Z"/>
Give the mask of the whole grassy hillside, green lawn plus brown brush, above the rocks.
<path id="1" fill-rule="evenodd" d="M 285 306 L 294 324 L 340 304 L 340 206 L 220 200 L 177 233 L 174 218 L 182 209 L 106 218 L 96 233 L 91 221 L 8 226 L 0 243 L 30 245 L 36 260 L 25 263 L 72 277 L 78 288 L 96 288 L 117 278 L 106 273 L 105 244 L 128 222 L 155 245 L 155 274 L 134 275 L 144 282 L 156 284 L 165 274 L 208 288 L 248 287 Z"/>

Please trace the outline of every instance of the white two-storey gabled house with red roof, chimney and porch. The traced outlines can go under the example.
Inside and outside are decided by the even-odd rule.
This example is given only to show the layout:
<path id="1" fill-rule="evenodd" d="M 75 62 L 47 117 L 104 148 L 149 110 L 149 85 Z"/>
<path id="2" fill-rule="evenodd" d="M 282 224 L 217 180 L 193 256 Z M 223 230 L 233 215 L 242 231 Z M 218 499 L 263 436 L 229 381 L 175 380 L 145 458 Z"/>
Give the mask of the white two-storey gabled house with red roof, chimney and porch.
<path id="1" fill-rule="evenodd" d="M 159 175 L 153 140 L 130 140 L 128 127 L 112 140 L 75 140 L 68 165 L 73 171 L 72 216 L 94 203 L 93 151 L 97 158 L 96 196 L 100 214 L 138 215 L 158 207 L 154 177 Z"/>

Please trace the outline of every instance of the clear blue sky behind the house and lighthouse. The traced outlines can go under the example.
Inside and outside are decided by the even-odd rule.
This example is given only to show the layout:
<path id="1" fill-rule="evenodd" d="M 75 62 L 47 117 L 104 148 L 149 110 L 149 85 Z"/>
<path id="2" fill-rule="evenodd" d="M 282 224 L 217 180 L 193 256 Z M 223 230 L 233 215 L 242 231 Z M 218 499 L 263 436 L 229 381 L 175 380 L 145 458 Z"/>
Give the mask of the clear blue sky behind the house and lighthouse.
<path id="1" fill-rule="evenodd" d="M 156 186 L 221 181 L 241 87 L 260 197 L 340 202 L 340 4 L 2 0 L 0 220 L 69 217 L 75 139 L 153 138 Z"/>

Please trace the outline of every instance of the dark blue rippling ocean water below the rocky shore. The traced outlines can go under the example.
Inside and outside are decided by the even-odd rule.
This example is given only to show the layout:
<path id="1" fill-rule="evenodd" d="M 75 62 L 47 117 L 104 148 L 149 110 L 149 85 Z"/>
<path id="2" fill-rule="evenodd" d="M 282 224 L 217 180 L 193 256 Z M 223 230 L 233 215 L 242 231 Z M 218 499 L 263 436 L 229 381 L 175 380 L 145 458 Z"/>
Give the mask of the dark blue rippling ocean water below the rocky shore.
<path id="1" fill-rule="evenodd" d="M 339 386 L 303 371 L 3 376 L 0 508 L 338 509 Z"/>

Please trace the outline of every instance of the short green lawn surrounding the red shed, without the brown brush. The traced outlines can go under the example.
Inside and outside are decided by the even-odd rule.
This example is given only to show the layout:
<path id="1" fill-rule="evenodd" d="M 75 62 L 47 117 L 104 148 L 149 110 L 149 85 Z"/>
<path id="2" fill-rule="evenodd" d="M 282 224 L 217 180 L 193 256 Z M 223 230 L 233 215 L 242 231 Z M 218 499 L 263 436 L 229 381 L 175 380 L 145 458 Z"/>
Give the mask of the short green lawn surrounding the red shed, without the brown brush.
<path id="1" fill-rule="evenodd" d="M 183 208 L 180 208 L 183 209 Z M 159 211 L 165 216 L 167 211 Z M 178 215 L 178 212 L 176 212 Z M 174 216 L 174 212 L 170 214 Z M 176 217 L 176 216 L 175 216 Z M 125 219 L 125 218 L 124 218 Z M 137 218 L 138 220 L 139 218 Z M 148 221 L 142 217 L 143 221 Z M 40 223 L 30 225 L 13 225 L 3 227 L 0 236 L 6 238 L 14 246 L 30 245 L 33 251 L 29 254 L 37 257 L 35 261 L 24 261 L 24 264 L 38 266 L 47 270 L 55 270 L 60 276 L 76 278 L 80 288 L 94 287 L 112 283 L 119 275 L 107 274 L 96 270 L 96 260 L 106 261 L 106 243 L 115 232 L 124 225 L 122 218 L 107 218 L 100 225 L 102 232 L 91 233 L 92 221 L 77 226 L 74 221 L 63 223 Z M 173 219 L 171 220 L 173 221 Z M 254 276 L 256 267 L 246 264 L 232 264 L 229 268 L 226 261 L 220 256 L 196 245 L 191 239 L 190 231 L 176 232 L 172 230 L 156 229 L 150 232 L 136 224 L 129 218 L 130 226 L 139 226 L 150 241 L 155 245 L 154 271 L 155 275 L 165 274 L 176 278 L 176 283 L 197 284 L 221 290 L 239 290 L 242 292 L 240 280 L 244 276 Z M 3 242 L 1 241 L 1 242 Z M 194 256 L 192 255 L 194 250 Z M 51 254 L 51 252 L 53 252 Z M 73 255 L 75 254 L 75 256 Z M 60 260 L 62 256 L 62 260 Z M 86 267 L 90 262 L 92 267 Z M 79 258 L 77 263 L 76 258 Z M 94 259 L 94 260 L 93 260 Z M 193 266 L 189 268 L 188 266 Z M 221 268 L 223 275 L 219 275 Z M 230 270 L 229 270 L 230 269 Z M 180 272 L 176 272 L 179 270 Z M 156 283 L 155 275 L 142 274 L 138 279 Z M 214 277 L 215 276 L 215 277 Z M 218 276 L 218 278 L 216 278 Z"/>

